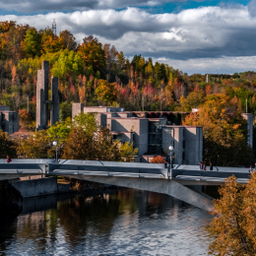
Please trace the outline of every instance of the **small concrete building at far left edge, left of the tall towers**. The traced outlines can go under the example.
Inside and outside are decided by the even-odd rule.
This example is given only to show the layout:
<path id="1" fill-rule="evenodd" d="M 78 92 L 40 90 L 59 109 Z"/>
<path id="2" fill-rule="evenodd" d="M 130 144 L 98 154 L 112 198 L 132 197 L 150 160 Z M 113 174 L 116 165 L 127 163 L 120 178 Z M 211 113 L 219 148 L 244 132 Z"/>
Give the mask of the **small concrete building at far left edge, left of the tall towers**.
<path id="1" fill-rule="evenodd" d="M 9 135 L 19 131 L 19 112 L 10 111 L 10 106 L 0 105 L 0 129 Z"/>

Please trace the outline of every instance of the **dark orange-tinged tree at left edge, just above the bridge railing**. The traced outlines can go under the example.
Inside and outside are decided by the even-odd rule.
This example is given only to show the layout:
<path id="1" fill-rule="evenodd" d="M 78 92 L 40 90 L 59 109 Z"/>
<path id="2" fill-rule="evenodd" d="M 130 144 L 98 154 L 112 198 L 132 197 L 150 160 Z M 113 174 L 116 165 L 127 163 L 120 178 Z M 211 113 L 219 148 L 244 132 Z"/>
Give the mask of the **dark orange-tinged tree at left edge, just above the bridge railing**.
<path id="1" fill-rule="evenodd" d="M 15 143 L 12 142 L 8 133 L 0 130 L 0 159 L 6 159 L 6 156 L 14 158 L 17 156 Z"/>

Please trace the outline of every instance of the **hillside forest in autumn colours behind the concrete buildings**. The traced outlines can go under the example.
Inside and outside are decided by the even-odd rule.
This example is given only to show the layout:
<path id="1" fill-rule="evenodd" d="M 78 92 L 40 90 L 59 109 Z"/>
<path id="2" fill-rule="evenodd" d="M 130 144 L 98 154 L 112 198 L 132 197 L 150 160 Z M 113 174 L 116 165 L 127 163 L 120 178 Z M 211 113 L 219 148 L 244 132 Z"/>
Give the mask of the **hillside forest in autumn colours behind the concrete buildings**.
<path id="1" fill-rule="evenodd" d="M 0 104 L 19 110 L 26 128 L 35 125 L 36 71 L 42 60 L 49 61 L 49 76 L 59 78 L 60 121 L 71 116 L 72 102 L 150 111 L 190 112 L 200 107 L 198 113 L 187 115 L 183 124 L 204 127 L 206 161 L 221 163 L 221 155 L 229 165 L 254 160 L 255 154 L 246 144 L 246 122 L 240 115 L 245 112 L 246 99 L 247 111 L 256 113 L 253 71 L 210 74 L 206 83 L 205 75 L 188 76 L 150 57 L 137 54 L 126 58 L 123 51 L 100 43 L 93 35 L 80 43 L 69 31 L 55 35 L 50 28 L 37 31 L 30 25 L 2 22 Z"/>

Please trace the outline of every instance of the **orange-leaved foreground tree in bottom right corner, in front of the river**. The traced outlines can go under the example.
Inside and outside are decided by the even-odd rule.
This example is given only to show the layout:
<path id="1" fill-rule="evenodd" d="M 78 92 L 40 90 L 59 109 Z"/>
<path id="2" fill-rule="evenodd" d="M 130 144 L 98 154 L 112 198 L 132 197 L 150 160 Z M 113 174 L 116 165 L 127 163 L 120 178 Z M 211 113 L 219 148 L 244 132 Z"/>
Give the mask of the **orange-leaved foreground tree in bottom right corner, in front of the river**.
<path id="1" fill-rule="evenodd" d="M 219 189 L 221 199 L 215 200 L 214 221 L 208 228 L 214 241 L 209 247 L 213 255 L 256 254 L 256 172 L 247 185 L 234 176 Z"/>

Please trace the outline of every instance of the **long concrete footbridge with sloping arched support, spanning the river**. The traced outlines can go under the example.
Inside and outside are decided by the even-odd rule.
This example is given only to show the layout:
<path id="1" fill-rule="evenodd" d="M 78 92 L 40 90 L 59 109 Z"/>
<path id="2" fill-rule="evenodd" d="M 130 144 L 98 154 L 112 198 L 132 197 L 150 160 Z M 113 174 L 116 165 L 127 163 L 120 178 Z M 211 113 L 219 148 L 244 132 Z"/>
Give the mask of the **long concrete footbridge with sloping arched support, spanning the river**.
<path id="1" fill-rule="evenodd" d="M 224 178 L 234 174 L 246 184 L 247 168 L 215 167 L 199 170 L 195 165 L 174 165 L 168 171 L 164 164 L 114 162 L 98 160 L 0 160 L 0 180 L 33 175 L 65 176 L 120 187 L 167 194 L 206 211 L 214 209 L 213 198 L 200 189 L 201 185 L 222 185 Z"/>

